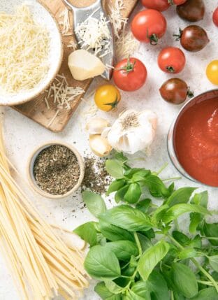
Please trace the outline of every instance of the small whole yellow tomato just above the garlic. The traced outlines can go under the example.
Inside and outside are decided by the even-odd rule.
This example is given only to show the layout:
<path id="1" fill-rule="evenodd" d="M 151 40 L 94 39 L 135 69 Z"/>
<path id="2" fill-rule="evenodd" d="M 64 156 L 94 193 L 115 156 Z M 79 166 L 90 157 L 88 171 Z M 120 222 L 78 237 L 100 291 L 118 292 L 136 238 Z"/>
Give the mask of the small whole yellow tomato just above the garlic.
<path id="1" fill-rule="evenodd" d="M 121 96 L 119 90 L 114 85 L 101 85 L 94 95 L 96 106 L 104 111 L 115 108 L 120 99 Z"/>

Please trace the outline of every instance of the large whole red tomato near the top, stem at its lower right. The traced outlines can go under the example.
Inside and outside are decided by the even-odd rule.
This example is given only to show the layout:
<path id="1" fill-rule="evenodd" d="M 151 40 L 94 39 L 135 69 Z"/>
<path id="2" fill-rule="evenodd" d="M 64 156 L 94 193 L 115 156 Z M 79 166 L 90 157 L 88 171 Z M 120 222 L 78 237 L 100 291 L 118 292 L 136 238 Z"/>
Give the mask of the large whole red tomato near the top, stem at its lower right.
<path id="1" fill-rule="evenodd" d="M 142 10 L 133 18 L 131 31 L 138 41 L 156 45 L 166 32 L 166 19 L 157 10 Z"/>

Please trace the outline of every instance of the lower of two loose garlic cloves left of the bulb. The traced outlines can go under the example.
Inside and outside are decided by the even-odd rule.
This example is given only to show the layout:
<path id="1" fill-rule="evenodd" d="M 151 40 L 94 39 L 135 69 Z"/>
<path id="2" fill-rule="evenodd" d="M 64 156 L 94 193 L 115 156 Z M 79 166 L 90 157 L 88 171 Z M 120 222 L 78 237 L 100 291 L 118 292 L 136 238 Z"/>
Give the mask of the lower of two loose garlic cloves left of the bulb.
<path id="1" fill-rule="evenodd" d="M 92 152 L 99 157 L 108 156 L 112 150 L 107 138 L 103 138 L 99 134 L 92 134 L 89 136 L 89 146 Z"/>

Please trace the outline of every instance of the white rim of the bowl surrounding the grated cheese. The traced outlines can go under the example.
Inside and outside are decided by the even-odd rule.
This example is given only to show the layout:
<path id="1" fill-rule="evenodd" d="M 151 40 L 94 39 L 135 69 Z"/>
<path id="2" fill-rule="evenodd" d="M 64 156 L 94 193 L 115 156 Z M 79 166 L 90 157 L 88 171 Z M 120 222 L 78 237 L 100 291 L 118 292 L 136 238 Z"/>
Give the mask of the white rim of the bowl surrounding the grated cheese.
<path id="1" fill-rule="evenodd" d="M 0 92 L 0 105 L 3 106 L 22 104 L 34 99 L 46 90 L 57 75 L 63 58 L 63 45 L 59 25 L 52 13 L 43 4 L 38 3 L 36 0 L 1 0 L 0 10 L 6 13 L 14 13 L 15 8 L 22 5 L 22 3 L 27 3 L 34 20 L 40 24 L 44 24 L 45 28 L 48 29 L 50 34 L 50 68 L 47 75 L 45 74 L 45 78 L 31 90 L 18 92 L 17 94 L 3 94 Z"/>

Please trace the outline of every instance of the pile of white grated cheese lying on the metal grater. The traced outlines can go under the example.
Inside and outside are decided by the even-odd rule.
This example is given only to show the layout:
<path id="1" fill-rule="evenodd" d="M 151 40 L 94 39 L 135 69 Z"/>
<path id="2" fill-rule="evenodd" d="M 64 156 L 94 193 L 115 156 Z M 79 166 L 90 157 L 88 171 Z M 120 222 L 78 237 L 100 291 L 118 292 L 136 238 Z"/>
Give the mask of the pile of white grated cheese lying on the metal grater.
<path id="1" fill-rule="evenodd" d="M 96 11 L 94 11 L 96 13 Z M 103 13 L 100 13 L 99 19 L 89 15 L 87 20 L 78 24 L 75 33 L 80 37 L 80 48 L 85 50 L 94 50 L 94 55 L 99 58 L 110 53 L 110 31 L 108 21 Z"/>

